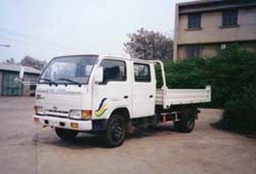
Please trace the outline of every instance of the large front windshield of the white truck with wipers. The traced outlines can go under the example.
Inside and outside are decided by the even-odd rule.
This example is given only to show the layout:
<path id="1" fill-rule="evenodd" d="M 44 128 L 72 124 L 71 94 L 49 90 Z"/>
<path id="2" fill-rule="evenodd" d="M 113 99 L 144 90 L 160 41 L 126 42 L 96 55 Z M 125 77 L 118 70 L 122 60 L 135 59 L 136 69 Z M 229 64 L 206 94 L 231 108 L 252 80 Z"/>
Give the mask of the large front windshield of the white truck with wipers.
<path id="1" fill-rule="evenodd" d="M 52 59 L 38 83 L 85 84 L 88 83 L 98 56 L 65 56 Z"/>

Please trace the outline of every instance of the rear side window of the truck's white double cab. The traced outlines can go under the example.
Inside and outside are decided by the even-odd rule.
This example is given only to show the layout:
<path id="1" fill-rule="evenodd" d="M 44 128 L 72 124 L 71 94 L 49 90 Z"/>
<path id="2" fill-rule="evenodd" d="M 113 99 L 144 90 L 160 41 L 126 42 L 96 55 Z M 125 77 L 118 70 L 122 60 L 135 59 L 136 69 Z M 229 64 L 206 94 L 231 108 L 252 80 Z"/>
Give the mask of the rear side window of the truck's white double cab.
<path id="1" fill-rule="evenodd" d="M 134 79 L 136 82 L 150 82 L 150 68 L 148 64 L 133 63 Z"/>

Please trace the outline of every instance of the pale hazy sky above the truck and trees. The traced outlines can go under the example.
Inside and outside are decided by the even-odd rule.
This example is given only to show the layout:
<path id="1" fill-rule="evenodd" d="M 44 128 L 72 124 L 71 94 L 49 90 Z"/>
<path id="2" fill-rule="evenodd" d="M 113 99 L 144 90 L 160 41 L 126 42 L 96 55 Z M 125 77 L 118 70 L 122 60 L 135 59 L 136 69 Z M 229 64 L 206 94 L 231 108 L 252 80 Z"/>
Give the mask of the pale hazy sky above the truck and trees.
<path id="1" fill-rule="evenodd" d="M 24 56 L 49 61 L 70 54 L 127 56 L 137 29 L 173 38 L 175 3 L 191 0 L 1 0 L 0 62 Z"/>

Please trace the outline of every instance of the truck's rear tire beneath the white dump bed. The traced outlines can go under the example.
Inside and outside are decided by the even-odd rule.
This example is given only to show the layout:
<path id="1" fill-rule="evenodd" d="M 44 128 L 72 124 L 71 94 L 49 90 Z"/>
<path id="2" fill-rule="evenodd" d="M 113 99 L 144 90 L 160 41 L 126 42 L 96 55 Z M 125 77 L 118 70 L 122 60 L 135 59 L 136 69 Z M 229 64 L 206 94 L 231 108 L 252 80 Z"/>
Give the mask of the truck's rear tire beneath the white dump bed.
<path id="1" fill-rule="evenodd" d="M 175 130 L 178 132 L 192 132 L 195 127 L 195 112 L 186 109 L 180 112 L 179 118 L 179 122 L 174 122 Z"/>

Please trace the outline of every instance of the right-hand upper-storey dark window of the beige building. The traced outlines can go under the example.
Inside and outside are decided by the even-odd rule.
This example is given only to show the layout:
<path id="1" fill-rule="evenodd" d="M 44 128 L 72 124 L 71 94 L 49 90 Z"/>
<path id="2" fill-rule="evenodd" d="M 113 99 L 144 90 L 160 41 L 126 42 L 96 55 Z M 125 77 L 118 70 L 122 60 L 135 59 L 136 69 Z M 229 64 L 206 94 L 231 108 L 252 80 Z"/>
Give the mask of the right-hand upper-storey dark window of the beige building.
<path id="1" fill-rule="evenodd" d="M 237 10 L 228 10 L 222 12 L 222 26 L 237 25 Z"/>

